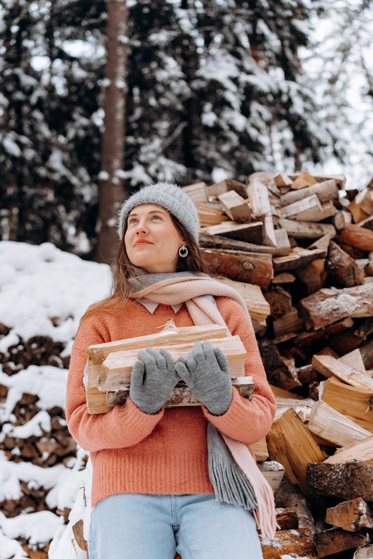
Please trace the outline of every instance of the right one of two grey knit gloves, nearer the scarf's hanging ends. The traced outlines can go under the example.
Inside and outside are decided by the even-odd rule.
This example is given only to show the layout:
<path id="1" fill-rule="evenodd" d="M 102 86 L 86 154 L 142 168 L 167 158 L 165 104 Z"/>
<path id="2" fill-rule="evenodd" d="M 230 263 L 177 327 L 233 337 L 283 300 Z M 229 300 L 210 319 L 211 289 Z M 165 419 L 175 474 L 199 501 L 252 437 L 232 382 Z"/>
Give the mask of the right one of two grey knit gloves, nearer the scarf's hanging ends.
<path id="1" fill-rule="evenodd" d="M 232 380 L 220 348 L 213 348 L 209 340 L 197 342 L 177 360 L 175 370 L 211 414 L 225 414 L 232 402 Z"/>

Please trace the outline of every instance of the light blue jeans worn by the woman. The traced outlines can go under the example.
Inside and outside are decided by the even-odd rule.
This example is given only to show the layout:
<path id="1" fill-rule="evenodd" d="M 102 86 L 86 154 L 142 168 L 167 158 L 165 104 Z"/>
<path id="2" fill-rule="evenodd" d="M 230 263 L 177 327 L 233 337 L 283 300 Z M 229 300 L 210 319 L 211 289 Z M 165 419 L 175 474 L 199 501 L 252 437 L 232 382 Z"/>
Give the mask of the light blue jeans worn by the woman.
<path id="1" fill-rule="evenodd" d="M 252 513 L 214 495 L 121 494 L 92 509 L 89 559 L 262 559 Z"/>

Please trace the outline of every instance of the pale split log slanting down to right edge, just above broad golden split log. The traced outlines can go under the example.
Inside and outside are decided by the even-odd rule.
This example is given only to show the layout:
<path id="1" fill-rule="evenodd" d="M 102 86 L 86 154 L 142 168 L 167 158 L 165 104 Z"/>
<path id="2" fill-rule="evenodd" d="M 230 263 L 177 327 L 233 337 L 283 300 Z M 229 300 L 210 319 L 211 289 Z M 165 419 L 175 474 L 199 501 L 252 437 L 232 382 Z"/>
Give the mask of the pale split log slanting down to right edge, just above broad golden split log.
<path id="1" fill-rule="evenodd" d="M 312 367 L 325 377 L 337 377 L 349 385 L 373 391 L 373 378 L 329 355 L 314 355 Z"/>

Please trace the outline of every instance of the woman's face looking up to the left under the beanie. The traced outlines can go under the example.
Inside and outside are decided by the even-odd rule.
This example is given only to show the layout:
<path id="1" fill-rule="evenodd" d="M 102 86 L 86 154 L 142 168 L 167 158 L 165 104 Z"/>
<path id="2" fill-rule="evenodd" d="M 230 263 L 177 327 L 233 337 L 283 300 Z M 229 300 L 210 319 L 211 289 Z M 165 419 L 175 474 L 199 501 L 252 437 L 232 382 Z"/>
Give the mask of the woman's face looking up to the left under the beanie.
<path id="1" fill-rule="evenodd" d="M 178 250 L 185 244 L 169 212 L 156 204 L 130 212 L 124 242 L 131 263 L 149 273 L 176 272 Z"/>

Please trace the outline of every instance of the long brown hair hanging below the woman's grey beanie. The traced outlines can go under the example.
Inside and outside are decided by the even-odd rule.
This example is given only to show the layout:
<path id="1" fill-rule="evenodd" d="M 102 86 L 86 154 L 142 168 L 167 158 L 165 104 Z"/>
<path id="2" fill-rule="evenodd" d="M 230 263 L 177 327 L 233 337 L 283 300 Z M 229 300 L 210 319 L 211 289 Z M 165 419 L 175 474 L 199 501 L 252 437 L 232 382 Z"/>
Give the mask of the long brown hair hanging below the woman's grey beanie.
<path id="1" fill-rule="evenodd" d="M 171 214 L 170 214 L 171 215 Z M 185 244 L 188 248 L 188 255 L 185 258 L 179 257 L 177 263 L 177 272 L 195 272 L 200 274 L 211 273 L 210 267 L 202 259 L 200 252 L 200 247 L 196 240 L 192 237 L 190 233 L 181 225 L 180 221 L 173 215 L 171 215 L 174 226 L 181 234 L 182 238 L 185 239 Z M 138 277 L 137 268 L 131 263 L 126 252 L 126 245 L 124 241 L 124 235 L 127 229 L 127 224 L 124 225 L 124 230 L 122 238 L 119 243 L 114 260 L 111 264 L 112 268 L 112 281 L 111 281 L 111 295 L 98 301 L 97 303 L 91 305 L 81 318 L 80 323 L 83 319 L 88 318 L 88 316 L 95 315 L 100 311 L 113 312 L 116 305 L 125 303 L 133 292 L 133 287 L 130 278 Z M 138 281 L 141 280 L 141 276 L 138 277 Z M 144 282 L 144 287 L 147 284 Z"/>

